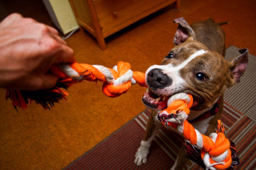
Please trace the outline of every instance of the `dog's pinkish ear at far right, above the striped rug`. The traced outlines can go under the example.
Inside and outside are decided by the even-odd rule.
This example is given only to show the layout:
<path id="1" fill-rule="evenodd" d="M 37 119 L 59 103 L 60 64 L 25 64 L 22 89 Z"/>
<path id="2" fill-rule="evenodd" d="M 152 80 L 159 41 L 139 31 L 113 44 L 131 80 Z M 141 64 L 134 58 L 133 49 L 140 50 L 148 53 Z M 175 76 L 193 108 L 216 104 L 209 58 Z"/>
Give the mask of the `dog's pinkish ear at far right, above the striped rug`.
<path id="1" fill-rule="evenodd" d="M 239 50 L 239 52 L 241 54 L 240 56 L 229 60 L 231 62 L 230 71 L 233 74 L 235 80 L 234 84 L 240 82 L 240 77 L 244 75 L 249 60 L 248 48 L 242 48 Z"/>

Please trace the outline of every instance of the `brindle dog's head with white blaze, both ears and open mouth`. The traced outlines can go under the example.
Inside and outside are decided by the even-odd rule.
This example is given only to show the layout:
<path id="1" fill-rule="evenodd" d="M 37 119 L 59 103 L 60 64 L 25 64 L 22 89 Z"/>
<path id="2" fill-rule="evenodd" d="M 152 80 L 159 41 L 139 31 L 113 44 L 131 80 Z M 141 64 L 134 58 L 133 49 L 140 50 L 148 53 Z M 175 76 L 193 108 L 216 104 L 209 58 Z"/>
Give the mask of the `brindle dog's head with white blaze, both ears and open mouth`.
<path id="1" fill-rule="evenodd" d="M 175 47 L 162 60 L 146 71 L 147 91 L 142 101 L 162 110 L 173 94 L 185 92 L 193 96 L 191 110 L 210 107 L 230 86 L 240 82 L 248 63 L 248 49 L 227 61 L 196 41 L 195 32 L 183 18 L 174 20 L 178 29 L 173 39 Z"/>

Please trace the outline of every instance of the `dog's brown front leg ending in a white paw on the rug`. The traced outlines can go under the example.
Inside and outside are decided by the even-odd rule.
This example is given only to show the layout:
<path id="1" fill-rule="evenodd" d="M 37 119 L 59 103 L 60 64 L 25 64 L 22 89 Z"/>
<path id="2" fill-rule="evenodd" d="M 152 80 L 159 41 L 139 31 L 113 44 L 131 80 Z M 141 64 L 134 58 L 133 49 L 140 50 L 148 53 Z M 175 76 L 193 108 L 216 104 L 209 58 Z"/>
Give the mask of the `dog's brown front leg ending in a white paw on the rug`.
<path id="1" fill-rule="evenodd" d="M 140 147 L 135 154 L 134 163 L 137 166 L 140 166 L 142 165 L 142 163 L 147 162 L 147 155 L 149 153 L 151 142 L 153 141 L 153 139 L 155 138 L 155 135 L 157 135 L 157 132 L 159 130 L 160 123 L 156 115 L 157 115 L 157 111 L 152 110 L 151 116 L 147 122 L 146 134 L 143 140 L 140 142 Z"/>

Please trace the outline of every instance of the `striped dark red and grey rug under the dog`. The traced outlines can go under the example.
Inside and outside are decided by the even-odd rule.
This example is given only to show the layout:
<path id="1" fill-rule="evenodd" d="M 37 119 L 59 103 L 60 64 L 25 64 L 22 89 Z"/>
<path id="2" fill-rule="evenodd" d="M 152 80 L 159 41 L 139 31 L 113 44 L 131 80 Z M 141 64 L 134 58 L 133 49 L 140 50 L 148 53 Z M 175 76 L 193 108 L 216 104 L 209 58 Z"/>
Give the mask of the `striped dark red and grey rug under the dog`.
<path id="1" fill-rule="evenodd" d="M 237 47 L 230 46 L 227 48 L 227 59 L 238 55 L 240 54 Z M 237 146 L 241 165 L 236 166 L 236 169 L 256 169 L 255 64 L 256 56 L 250 54 L 249 66 L 241 83 L 230 88 L 225 93 L 224 98 L 224 111 L 221 120 L 225 124 L 226 137 L 234 141 Z M 144 110 L 112 135 L 70 163 L 64 170 L 170 169 L 184 140 L 165 127 L 160 129 L 154 139 L 147 163 L 140 167 L 133 163 L 136 150 L 143 139 L 149 116 L 150 111 Z M 195 163 L 190 162 L 186 169 L 195 170 L 200 168 Z"/>

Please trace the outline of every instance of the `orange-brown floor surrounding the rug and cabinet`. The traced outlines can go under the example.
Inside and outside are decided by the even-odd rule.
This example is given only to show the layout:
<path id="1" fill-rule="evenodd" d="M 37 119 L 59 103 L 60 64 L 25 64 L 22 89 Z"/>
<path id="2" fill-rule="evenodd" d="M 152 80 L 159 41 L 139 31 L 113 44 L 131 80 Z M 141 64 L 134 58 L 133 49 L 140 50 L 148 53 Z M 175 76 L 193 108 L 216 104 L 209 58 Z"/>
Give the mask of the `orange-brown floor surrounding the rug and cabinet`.
<path id="1" fill-rule="evenodd" d="M 83 31 L 69 37 L 67 43 L 79 63 L 113 67 L 125 61 L 131 63 L 133 71 L 146 71 L 174 47 L 177 25 L 173 19 L 184 17 L 193 23 L 212 17 L 230 23 L 222 26 L 226 47 L 246 47 L 256 55 L 255 9 L 255 0 L 181 0 L 179 11 L 167 7 L 108 37 L 105 51 Z M 52 25 L 40 0 L 4 0 L 0 10 L 1 19 L 20 12 Z M 10 100 L 5 101 L 5 90 L 0 89 L 0 169 L 61 169 L 144 110 L 144 88 L 134 85 L 127 94 L 108 98 L 101 86 L 101 82 L 74 84 L 67 101 L 46 111 L 35 103 L 16 111 Z"/>

